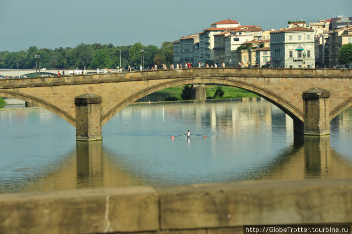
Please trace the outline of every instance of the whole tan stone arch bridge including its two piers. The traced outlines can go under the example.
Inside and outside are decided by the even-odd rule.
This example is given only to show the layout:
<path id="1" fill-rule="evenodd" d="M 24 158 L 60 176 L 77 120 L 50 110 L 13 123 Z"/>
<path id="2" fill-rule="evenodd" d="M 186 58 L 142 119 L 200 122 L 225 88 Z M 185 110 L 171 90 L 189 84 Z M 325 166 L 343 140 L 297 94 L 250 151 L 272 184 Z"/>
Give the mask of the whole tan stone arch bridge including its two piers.
<path id="1" fill-rule="evenodd" d="M 329 134 L 329 121 L 352 105 L 352 70 L 193 68 L 0 80 L 0 96 L 44 107 L 76 127 L 77 140 L 99 140 L 120 110 L 156 91 L 220 84 L 263 97 L 306 135 Z"/>

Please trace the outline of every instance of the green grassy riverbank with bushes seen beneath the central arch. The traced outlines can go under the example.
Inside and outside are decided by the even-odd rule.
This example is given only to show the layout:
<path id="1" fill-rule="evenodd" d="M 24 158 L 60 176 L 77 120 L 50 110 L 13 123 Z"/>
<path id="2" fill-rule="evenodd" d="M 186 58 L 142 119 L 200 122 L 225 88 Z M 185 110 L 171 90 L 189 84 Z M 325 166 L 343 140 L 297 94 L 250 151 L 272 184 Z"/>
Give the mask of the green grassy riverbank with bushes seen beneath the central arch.
<path id="1" fill-rule="evenodd" d="M 206 85 L 207 99 L 212 99 L 214 97 L 217 87 L 218 87 L 217 85 Z M 232 86 L 221 86 L 221 87 L 224 91 L 224 95 L 221 98 L 216 98 L 216 99 L 258 97 L 253 93 L 250 93 L 248 91 L 245 91 L 236 87 L 232 87 Z M 184 86 L 176 86 L 176 87 L 160 90 L 156 93 L 176 96 L 179 98 L 179 100 L 181 100 L 181 94 L 182 94 L 183 88 Z"/>

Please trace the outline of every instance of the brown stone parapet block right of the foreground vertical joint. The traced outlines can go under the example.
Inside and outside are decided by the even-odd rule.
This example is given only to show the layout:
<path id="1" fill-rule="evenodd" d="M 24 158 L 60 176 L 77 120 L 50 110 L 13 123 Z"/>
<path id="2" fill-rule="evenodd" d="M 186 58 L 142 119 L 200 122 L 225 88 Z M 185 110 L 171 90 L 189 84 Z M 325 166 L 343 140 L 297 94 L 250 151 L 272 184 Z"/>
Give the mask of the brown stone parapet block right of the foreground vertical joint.
<path id="1" fill-rule="evenodd" d="M 162 229 L 350 222 L 348 181 L 253 182 L 158 188 Z"/>

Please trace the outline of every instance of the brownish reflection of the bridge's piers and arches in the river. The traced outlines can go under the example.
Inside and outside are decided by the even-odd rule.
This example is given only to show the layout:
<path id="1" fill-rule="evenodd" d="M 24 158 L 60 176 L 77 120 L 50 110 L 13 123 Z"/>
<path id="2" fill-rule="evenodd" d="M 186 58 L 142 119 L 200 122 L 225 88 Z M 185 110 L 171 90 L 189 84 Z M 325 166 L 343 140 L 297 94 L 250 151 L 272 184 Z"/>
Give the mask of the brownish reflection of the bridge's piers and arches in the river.
<path id="1" fill-rule="evenodd" d="M 131 174 L 126 170 L 128 166 L 112 161 L 116 159 L 116 155 L 103 151 L 101 141 L 77 141 L 76 155 L 70 155 L 59 166 L 64 169 L 58 168 L 56 172 L 41 175 L 30 183 L 24 182 L 27 191 L 157 185 L 143 178 L 143 173 Z M 260 170 L 254 171 L 249 180 L 350 178 L 351 171 L 352 165 L 330 148 L 329 136 L 298 134 L 293 145 L 284 149 L 278 157 L 269 160 Z M 233 180 L 229 178 L 229 181 Z M 23 186 L 20 184 L 14 187 Z"/>

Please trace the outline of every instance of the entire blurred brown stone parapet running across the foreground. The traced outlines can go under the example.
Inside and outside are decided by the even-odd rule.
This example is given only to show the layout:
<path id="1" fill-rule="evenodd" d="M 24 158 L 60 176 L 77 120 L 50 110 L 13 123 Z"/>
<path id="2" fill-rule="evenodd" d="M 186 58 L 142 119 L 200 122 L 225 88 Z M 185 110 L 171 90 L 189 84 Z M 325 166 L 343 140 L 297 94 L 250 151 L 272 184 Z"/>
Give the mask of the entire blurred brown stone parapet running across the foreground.
<path id="1" fill-rule="evenodd" d="M 352 179 L 0 195 L 0 233 L 242 233 L 242 225 L 352 223 Z"/>

